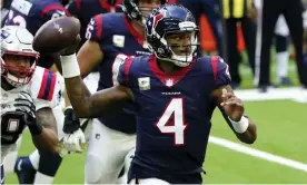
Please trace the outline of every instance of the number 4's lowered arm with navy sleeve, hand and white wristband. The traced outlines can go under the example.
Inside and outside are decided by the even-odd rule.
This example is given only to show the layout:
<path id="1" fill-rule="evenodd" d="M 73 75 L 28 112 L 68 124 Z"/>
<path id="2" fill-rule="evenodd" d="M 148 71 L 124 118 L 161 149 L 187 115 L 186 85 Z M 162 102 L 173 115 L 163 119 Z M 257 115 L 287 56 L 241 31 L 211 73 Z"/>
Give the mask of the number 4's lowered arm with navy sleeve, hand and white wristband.
<path id="1" fill-rule="evenodd" d="M 236 97 L 230 84 L 228 65 L 221 58 L 214 58 L 215 90 L 212 97 L 219 107 L 225 120 L 236 136 L 246 144 L 252 144 L 256 138 L 256 125 L 245 116 L 245 107 L 240 98 Z"/>

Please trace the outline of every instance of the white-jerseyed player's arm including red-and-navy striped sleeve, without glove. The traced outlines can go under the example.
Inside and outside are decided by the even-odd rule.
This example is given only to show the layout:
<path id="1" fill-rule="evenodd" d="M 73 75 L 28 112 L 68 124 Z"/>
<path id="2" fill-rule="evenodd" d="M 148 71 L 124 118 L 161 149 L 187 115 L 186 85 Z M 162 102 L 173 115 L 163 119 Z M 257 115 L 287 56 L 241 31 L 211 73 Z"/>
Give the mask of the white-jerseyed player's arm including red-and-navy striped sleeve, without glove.
<path id="1" fill-rule="evenodd" d="M 42 128 L 41 132 L 32 134 L 33 143 L 40 149 L 57 152 L 57 119 L 52 108 L 60 104 L 61 84 L 59 76 L 48 69 L 37 67 L 32 79 L 30 89 L 32 97 L 34 97 L 36 123 Z"/>

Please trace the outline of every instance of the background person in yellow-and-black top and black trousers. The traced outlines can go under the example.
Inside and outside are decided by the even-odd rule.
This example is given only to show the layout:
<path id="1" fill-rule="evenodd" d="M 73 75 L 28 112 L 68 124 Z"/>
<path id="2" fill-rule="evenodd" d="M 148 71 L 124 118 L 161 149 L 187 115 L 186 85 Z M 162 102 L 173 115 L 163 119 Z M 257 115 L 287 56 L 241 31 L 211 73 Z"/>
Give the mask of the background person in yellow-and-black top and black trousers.
<path id="1" fill-rule="evenodd" d="M 256 12 L 252 0 L 222 0 L 222 16 L 225 19 L 225 33 L 227 46 L 227 62 L 231 75 L 231 87 L 240 88 L 241 77 L 239 72 L 240 55 L 237 48 L 237 27 L 242 28 L 242 36 L 247 47 L 248 61 L 254 74 L 255 47 L 256 47 Z"/>

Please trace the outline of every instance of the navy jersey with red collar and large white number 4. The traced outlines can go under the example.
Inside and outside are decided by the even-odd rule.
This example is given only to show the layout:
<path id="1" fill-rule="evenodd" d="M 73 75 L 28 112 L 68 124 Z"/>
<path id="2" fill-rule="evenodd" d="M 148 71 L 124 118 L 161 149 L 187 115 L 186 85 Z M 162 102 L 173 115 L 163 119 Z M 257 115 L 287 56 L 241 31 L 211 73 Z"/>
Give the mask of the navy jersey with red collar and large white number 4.
<path id="1" fill-rule="evenodd" d="M 169 76 L 155 56 L 142 56 L 120 66 L 118 81 L 132 90 L 137 115 L 129 179 L 201 183 L 216 107 L 211 93 L 230 84 L 228 66 L 219 57 L 204 57 Z"/>

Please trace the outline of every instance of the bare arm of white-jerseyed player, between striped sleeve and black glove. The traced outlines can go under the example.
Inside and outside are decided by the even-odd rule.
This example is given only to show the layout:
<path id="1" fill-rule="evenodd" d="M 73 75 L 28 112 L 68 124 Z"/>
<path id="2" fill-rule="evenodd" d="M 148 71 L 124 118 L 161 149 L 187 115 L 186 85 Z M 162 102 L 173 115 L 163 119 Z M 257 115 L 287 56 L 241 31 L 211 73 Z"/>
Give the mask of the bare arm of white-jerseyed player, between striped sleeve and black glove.
<path id="1" fill-rule="evenodd" d="M 44 107 L 36 113 L 38 124 L 43 126 L 40 135 L 32 136 L 38 149 L 58 152 L 57 120 L 50 107 Z"/>

